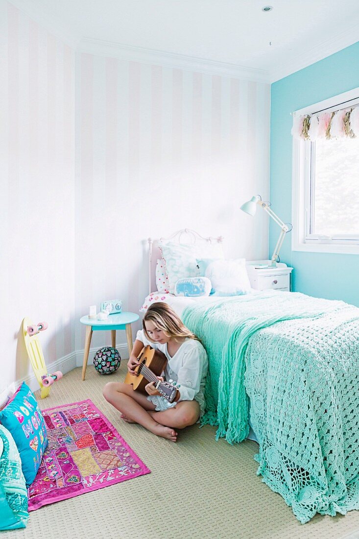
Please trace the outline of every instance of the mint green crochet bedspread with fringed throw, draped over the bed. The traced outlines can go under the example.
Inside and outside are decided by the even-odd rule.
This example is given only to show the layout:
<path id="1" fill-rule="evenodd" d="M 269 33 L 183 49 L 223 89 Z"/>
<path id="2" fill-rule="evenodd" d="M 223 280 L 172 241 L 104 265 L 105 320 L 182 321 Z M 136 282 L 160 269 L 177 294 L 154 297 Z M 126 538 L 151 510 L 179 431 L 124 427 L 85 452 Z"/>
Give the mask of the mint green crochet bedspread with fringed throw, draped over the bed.
<path id="1" fill-rule="evenodd" d="M 299 293 L 200 300 L 183 321 L 209 356 L 217 439 L 246 438 L 258 475 L 302 523 L 359 508 L 359 309 Z"/>

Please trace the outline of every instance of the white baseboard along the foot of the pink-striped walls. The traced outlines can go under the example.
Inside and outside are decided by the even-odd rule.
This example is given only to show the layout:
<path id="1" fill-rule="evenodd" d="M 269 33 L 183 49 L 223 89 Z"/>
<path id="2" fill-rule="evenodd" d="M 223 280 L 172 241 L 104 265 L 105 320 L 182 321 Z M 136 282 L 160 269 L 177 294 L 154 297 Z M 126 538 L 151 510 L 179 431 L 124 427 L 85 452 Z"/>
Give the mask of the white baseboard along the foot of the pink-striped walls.
<path id="1" fill-rule="evenodd" d="M 119 354 L 121 356 L 121 361 L 128 360 L 128 348 L 127 343 L 126 344 L 116 344 L 116 349 L 119 351 Z M 89 350 L 88 354 L 88 360 L 87 365 L 92 365 L 93 362 L 93 356 L 98 350 L 96 347 L 92 347 Z M 67 354 L 66 356 L 60 357 L 58 360 L 53 361 L 52 363 L 49 363 L 47 365 L 47 371 L 49 374 L 51 372 L 55 372 L 57 370 L 60 370 L 63 374 L 66 374 L 66 372 L 72 371 L 72 369 L 75 369 L 76 367 L 82 367 L 82 362 L 84 361 L 84 349 L 82 350 L 75 350 L 74 352 L 71 352 L 71 354 Z M 29 373 L 25 378 L 21 378 L 15 382 L 15 388 L 18 388 L 18 386 L 25 382 L 31 391 L 37 391 L 39 389 L 39 384 L 36 379 L 36 376 L 32 373 Z M 12 386 L 14 384 L 11 384 Z M 4 390 L 3 393 L 7 392 L 7 390 Z M 12 391 L 13 393 L 13 391 Z M 0 399 L 1 404 L 1 399 Z"/>

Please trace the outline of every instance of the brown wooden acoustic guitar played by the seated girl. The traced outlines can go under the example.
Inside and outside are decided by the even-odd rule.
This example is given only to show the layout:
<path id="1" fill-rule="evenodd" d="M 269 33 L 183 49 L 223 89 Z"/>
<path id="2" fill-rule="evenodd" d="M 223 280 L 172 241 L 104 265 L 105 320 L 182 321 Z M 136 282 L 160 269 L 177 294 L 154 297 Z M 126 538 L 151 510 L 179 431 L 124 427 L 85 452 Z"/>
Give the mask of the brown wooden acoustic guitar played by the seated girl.
<path id="1" fill-rule="evenodd" d="M 135 391 L 140 391 L 141 393 L 148 395 L 147 391 L 144 389 L 145 386 L 148 382 L 155 382 L 155 388 L 160 395 L 168 400 L 169 403 L 174 402 L 177 396 L 179 396 L 179 391 L 176 386 L 169 382 L 161 382 L 161 380 L 158 380 L 157 378 L 157 376 L 161 376 L 161 372 L 163 372 L 167 357 L 162 354 L 160 350 L 145 346 L 137 357 L 137 361 L 139 364 L 134 369 L 136 376 L 127 372 L 125 384 L 132 384 Z"/>

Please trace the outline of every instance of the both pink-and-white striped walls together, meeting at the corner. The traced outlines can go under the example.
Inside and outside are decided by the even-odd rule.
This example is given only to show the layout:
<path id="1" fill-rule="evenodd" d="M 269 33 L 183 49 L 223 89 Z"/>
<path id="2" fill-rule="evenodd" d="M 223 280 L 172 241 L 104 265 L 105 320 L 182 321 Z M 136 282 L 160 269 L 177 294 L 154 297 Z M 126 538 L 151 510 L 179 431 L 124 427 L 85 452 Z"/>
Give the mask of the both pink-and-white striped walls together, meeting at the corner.
<path id="1" fill-rule="evenodd" d="M 267 257 L 265 216 L 239 206 L 268 195 L 269 85 L 75 53 L 7 2 L 0 65 L 0 390 L 31 372 L 25 315 L 49 322 L 52 363 L 83 349 L 89 305 L 138 312 L 149 236 L 189 227 Z"/>

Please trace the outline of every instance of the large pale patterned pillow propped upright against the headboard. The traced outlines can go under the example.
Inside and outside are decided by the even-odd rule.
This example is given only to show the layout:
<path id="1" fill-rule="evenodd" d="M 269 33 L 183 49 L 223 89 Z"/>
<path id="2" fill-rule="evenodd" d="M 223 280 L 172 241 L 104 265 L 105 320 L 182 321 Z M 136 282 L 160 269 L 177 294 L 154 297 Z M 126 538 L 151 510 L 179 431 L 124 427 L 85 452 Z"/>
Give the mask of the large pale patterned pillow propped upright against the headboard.
<path id="1" fill-rule="evenodd" d="M 178 279 L 198 277 L 196 258 L 224 258 L 222 245 L 219 243 L 179 244 L 171 241 L 159 242 L 168 276 L 168 289 L 174 293 Z"/>

